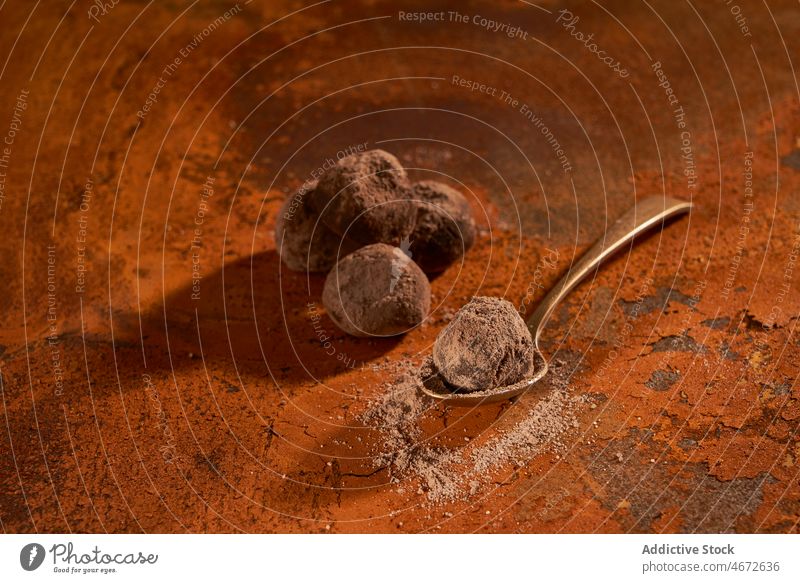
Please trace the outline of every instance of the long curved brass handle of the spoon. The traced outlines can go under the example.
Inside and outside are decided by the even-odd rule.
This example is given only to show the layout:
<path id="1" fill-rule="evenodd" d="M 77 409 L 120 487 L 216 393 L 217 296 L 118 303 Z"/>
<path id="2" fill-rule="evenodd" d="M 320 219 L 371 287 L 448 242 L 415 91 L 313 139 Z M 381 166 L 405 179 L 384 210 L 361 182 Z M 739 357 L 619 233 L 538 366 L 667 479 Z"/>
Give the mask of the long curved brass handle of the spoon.
<path id="1" fill-rule="evenodd" d="M 539 333 L 558 303 L 598 265 L 640 233 L 654 227 L 663 227 L 666 219 L 688 212 L 690 208 L 691 202 L 670 197 L 649 196 L 637 201 L 632 209 L 609 227 L 591 249 L 570 266 L 569 271 L 553 286 L 528 318 L 528 329 L 536 343 L 538 344 Z"/>

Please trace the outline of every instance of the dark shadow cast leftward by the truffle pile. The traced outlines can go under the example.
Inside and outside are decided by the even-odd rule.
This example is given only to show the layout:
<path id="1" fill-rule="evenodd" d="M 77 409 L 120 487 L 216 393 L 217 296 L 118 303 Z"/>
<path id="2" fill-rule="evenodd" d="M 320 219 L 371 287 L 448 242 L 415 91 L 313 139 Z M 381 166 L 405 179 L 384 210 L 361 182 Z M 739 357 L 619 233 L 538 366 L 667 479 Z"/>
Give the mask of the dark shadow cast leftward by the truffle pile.
<path id="1" fill-rule="evenodd" d="M 141 315 L 148 367 L 234 367 L 276 383 L 320 381 L 381 356 L 397 338 L 354 338 L 325 313 L 324 275 L 293 272 L 276 251 L 233 261 Z M 122 329 L 139 339 L 137 314 Z"/>

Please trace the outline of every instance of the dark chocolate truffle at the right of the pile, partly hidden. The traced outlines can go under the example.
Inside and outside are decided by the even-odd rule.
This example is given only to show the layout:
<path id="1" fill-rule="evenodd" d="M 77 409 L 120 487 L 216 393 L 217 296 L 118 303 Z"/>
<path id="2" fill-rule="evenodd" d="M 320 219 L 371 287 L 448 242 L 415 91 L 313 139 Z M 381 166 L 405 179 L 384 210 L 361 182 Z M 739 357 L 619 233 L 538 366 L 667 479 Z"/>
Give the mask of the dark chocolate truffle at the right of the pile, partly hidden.
<path id="1" fill-rule="evenodd" d="M 475 242 L 472 209 L 460 192 L 441 182 L 417 182 L 411 196 L 417 205 L 411 256 L 426 273 L 444 271 Z"/>

